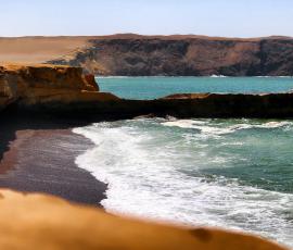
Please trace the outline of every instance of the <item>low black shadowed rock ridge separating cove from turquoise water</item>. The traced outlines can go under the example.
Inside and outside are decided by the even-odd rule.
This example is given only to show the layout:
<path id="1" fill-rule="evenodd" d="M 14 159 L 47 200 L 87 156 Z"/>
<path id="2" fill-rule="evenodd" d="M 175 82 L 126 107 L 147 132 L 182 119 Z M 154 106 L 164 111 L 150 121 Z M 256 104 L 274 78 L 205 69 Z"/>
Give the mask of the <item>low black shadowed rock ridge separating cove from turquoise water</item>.
<path id="1" fill-rule="evenodd" d="M 18 105 L 28 113 L 39 112 L 79 120 L 119 120 L 137 116 L 174 116 L 178 118 L 293 118 L 293 93 L 269 95 L 176 95 L 157 100 L 110 99 L 100 101 L 101 96 L 80 102 L 80 97 L 71 104 L 39 102 L 37 105 Z"/>

